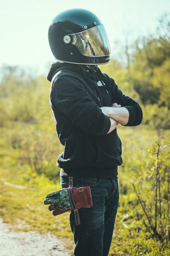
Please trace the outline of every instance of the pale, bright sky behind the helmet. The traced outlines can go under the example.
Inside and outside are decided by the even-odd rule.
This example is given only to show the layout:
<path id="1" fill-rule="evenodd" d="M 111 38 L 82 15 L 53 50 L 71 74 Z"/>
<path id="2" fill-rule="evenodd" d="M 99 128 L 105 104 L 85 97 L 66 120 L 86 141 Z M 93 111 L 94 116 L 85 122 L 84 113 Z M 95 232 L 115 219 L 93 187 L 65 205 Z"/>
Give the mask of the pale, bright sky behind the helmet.
<path id="1" fill-rule="evenodd" d="M 158 19 L 170 13 L 169 0 L 0 0 L 0 67 L 24 65 L 47 72 L 53 61 L 49 24 L 58 13 L 84 8 L 95 13 L 107 30 L 112 54 L 115 41 L 133 42 L 155 32 Z"/>

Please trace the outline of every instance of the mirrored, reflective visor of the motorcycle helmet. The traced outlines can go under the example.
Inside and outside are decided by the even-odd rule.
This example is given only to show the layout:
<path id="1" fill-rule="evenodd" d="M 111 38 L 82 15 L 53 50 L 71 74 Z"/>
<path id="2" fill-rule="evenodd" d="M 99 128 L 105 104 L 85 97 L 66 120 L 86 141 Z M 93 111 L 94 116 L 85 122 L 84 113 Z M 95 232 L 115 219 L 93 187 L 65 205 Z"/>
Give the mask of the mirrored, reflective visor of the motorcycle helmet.
<path id="1" fill-rule="evenodd" d="M 110 55 L 109 40 L 103 24 L 69 36 L 72 38 L 71 43 L 84 56 L 101 57 Z"/>

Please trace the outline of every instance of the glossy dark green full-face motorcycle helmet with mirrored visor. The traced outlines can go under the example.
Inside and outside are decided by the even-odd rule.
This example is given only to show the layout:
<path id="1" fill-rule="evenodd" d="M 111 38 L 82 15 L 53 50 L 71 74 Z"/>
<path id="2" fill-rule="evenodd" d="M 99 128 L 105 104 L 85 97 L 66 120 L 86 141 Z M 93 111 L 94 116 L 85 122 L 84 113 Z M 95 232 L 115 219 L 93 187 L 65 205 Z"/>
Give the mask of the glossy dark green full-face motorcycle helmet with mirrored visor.
<path id="1" fill-rule="evenodd" d="M 97 65 L 110 60 L 107 32 L 91 11 L 70 9 L 59 13 L 49 26 L 48 39 L 59 61 Z"/>

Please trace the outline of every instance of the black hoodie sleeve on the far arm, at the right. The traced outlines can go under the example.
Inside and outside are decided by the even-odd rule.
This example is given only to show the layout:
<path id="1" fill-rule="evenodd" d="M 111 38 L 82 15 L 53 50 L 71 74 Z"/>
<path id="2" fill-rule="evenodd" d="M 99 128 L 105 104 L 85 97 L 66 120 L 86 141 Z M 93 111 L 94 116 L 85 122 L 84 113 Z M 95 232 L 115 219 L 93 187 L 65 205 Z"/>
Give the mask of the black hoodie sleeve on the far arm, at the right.
<path id="1" fill-rule="evenodd" d="M 120 89 L 118 89 L 117 84 L 114 80 L 109 77 L 110 85 L 112 88 L 112 103 L 116 102 L 120 104 L 122 107 L 128 109 L 129 112 L 129 121 L 125 126 L 137 126 L 142 122 L 143 113 L 139 104 L 130 98 L 129 96 L 125 96 L 124 93 Z"/>

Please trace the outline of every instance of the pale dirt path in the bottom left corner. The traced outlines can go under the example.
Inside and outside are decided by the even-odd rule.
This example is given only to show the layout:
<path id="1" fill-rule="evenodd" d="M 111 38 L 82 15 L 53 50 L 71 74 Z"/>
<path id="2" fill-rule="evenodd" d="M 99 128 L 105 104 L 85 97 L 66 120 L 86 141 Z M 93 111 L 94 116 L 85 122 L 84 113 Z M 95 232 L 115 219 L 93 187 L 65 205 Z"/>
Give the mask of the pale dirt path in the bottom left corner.
<path id="1" fill-rule="evenodd" d="M 70 256 L 65 243 L 52 234 L 11 231 L 0 218 L 0 256 Z"/>

